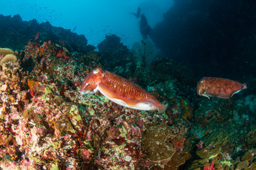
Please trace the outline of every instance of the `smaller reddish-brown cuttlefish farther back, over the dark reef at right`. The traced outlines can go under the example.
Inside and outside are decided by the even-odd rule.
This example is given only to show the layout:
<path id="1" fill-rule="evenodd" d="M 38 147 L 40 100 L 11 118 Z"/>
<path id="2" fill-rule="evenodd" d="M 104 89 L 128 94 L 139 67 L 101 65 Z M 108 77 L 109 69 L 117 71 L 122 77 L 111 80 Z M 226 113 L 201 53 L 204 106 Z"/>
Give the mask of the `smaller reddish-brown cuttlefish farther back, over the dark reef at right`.
<path id="1" fill-rule="evenodd" d="M 246 84 L 240 84 L 230 79 L 204 77 L 198 82 L 196 91 L 199 96 L 205 96 L 207 98 L 218 97 L 229 99 L 242 89 L 247 89 Z"/>

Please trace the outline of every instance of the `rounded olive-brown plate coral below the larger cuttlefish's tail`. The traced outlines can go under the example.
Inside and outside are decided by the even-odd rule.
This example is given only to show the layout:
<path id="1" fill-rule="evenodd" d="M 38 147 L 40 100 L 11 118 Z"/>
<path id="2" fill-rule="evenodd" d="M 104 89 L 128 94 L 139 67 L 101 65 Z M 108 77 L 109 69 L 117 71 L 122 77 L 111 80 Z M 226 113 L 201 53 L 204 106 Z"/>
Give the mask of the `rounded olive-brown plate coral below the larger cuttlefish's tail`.
<path id="1" fill-rule="evenodd" d="M 189 159 L 190 154 L 183 152 L 186 142 L 184 133 L 186 129 L 169 128 L 168 125 L 161 123 L 159 125 L 146 124 L 146 130 L 142 134 L 142 148 L 146 154 L 145 159 L 151 162 L 168 161 L 166 168 L 178 169 L 178 166 L 184 164 Z"/>

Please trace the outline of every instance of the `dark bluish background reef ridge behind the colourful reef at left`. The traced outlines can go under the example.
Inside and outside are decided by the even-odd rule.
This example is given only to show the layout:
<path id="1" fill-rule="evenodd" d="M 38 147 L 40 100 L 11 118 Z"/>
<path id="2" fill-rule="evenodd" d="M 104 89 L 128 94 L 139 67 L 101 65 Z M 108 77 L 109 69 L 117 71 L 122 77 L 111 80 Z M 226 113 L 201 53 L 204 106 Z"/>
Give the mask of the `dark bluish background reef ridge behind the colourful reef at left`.
<path id="1" fill-rule="evenodd" d="M 22 50 L 29 40 L 36 39 L 38 42 L 51 40 L 65 46 L 70 52 L 86 53 L 95 50 L 92 45 L 87 45 L 84 35 L 51 26 L 49 22 L 38 23 L 35 19 L 22 21 L 19 15 L 13 17 L 0 15 L 0 23 L 0 47 Z"/>

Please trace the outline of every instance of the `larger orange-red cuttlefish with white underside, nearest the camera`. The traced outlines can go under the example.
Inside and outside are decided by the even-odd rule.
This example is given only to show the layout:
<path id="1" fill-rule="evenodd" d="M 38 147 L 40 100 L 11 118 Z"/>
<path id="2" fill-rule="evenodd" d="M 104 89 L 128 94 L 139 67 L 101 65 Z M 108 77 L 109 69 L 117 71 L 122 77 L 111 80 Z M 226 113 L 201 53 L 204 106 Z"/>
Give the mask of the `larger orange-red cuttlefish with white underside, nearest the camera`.
<path id="1" fill-rule="evenodd" d="M 85 77 L 80 94 L 95 94 L 100 91 L 110 101 L 127 108 L 164 113 L 168 104 L 161 104 L 153 95 L 137 84 L 101 68 L 93 69 Z"/>

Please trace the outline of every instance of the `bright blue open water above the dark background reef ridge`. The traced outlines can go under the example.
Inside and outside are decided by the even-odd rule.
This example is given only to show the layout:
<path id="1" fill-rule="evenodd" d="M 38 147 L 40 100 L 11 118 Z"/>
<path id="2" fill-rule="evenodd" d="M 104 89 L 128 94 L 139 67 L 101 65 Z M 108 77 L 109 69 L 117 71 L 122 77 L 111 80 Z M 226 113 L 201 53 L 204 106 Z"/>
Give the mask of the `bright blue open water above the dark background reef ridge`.
<path id="1" fill-rule="evenodd" d="M 139 33 L 139 20 L 130 15 L 138 6 L 148 16 L 150 26 L 163 19 L 174 2 L 171 0 L 98 0 L 98 1 L 0 1 L 0 13 L 14 16 L 19 14 L 24 21 L 35 18 L 39 23 L 49 21 L 83 34 L 89 44 L 97 45 L 104 40 L 105 34 L 116 34 L 124 45 L 142 39 Z"/>

